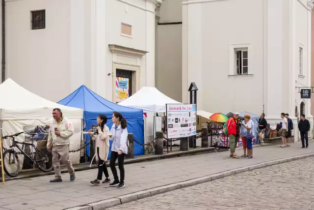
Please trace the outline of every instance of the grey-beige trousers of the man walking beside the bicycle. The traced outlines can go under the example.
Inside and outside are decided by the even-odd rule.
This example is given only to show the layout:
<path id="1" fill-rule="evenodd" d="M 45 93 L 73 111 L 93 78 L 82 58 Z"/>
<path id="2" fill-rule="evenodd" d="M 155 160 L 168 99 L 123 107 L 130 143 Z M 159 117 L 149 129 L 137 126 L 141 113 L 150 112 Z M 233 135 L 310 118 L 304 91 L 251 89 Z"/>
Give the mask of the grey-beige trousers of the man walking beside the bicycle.
<path id="1" fill-rule="evenodd" d="M 70 175 L 74 174 L 74 169 L 69 158 L 70 145 L 57 145 L 52 146 L 52 166 L 56 179 L 61 179 L 60 160 L 67 167 Z"/>

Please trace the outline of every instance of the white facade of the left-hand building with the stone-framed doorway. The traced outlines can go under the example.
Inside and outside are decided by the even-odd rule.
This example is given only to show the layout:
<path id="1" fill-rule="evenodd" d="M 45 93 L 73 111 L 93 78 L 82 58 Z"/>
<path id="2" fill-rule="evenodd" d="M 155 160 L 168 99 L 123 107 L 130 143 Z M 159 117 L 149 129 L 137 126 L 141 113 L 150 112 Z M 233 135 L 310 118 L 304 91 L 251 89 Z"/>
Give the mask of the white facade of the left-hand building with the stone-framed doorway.
<path id="1" fill-rule="evenodd" d="M 154 86 L 159 2 L 6 0 L 5 78 L 52 101 L 86 85 L 116 102 L 115 77 Z"/>

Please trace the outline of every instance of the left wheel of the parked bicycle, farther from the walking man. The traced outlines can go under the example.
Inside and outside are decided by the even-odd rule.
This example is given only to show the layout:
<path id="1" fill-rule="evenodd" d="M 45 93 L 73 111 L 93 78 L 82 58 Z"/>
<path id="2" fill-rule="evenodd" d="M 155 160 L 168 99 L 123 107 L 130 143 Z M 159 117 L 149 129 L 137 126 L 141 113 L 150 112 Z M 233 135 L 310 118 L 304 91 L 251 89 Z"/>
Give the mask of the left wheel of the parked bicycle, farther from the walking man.
<path id="1" fill-rule="evenodd" d="M 3 169 L 10 177 L 16 177 L 20 172 L 20 160 L 13 150 L 3 152 Z"/>

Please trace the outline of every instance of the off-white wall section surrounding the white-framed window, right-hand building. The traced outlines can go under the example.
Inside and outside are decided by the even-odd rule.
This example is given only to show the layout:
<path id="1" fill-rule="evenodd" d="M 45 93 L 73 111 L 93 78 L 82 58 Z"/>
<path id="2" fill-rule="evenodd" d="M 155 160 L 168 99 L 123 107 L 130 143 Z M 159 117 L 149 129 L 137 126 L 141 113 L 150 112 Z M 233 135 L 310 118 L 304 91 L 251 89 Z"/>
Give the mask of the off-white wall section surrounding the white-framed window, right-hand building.
<path id="1" fill-rule="evenodd" d="M 186 65 L 188 69 L 186 80 L 183 78 L 183 96 L 186 94 L 187 98 L 185 89 L 190 82 L 195 82 L 199 89 L 198 109 L 260 114 L 262 0 L 219 0 L 183 3 L 183 6 L 183 71 Z M 230 55 L 233 55 L 231 47 L 238 44 L 250 46 L 249 74 L 253 76 L 228 76 L 231 74 Z"/>

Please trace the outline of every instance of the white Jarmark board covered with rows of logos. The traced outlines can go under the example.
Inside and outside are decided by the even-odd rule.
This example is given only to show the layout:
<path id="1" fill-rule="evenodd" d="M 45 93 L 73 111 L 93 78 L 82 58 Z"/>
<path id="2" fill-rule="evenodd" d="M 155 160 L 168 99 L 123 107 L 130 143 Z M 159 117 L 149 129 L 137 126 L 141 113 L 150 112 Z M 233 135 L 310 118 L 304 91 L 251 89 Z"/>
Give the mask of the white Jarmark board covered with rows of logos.
<path id="1" fill-rule="evenodd" d="M 166 104 L 167 138 L 182 138 L 196 135 L 196 105 Z"/>

